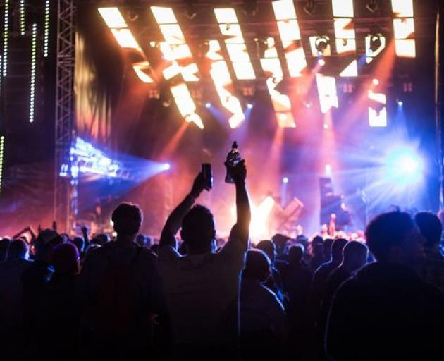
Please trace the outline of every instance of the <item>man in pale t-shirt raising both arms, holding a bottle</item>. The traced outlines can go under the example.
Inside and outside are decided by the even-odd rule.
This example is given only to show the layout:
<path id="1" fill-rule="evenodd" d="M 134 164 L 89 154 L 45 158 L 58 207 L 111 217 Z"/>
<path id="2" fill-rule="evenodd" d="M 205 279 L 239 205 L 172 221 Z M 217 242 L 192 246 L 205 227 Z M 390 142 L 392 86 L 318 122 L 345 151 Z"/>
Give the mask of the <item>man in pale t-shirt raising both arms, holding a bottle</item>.
<path id="1" fill-rule="evenodd" d="M 159 271 L 171 319 L 174 360 L 238 360 L 239 281 L 251 219 L 244 161 L 228 168 L 235 181 L 237 221 L 216 251 L 214 217 L 195 205 L 206 188 L 199 173 L 168 217 L 159 243 Z M 177 251 L 180 226 L 187 254 Z"/>

